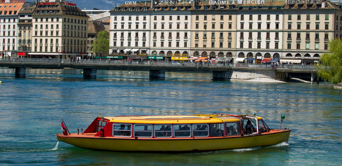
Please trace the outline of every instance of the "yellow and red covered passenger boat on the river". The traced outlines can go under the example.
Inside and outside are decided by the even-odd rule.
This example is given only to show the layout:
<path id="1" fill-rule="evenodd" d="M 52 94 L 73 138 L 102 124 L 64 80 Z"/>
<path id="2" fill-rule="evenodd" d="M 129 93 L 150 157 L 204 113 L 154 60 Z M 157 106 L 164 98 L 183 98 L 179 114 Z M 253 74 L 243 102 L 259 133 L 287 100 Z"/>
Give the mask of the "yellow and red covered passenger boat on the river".
<path id="1" fill-rule="evenodd" d="M 246 134 L 248 120 L 255 133 Z M 178 153 L 269 146 L 287 142 L 290 132 L 286 128 L 270 129 L 255 114 L 213 113 L 100 116 L 82 133 L 55 136 L 60 141 L 87 149 Z"/>

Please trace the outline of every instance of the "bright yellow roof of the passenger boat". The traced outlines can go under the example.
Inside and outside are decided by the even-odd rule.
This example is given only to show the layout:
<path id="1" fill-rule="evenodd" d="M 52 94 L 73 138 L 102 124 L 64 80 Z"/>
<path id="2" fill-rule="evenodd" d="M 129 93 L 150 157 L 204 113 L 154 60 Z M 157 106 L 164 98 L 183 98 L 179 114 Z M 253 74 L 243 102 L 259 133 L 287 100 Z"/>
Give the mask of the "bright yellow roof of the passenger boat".
<path id="1" fill-rule="evenodd" d="M 238 115 L 241 116 L 241 115 Z M 258 120 L 261 117 L 255 116 Z M 218 116 L 211 114 L 194 114 L 194 115 L 127 115 L 127 116 L 110 116 L 103 117 L 114 123 L 140 123 L 140 124 L 203 124 L 203 123 L 222 123 L 238 122 L 239 117 L 235 116 Z"/>

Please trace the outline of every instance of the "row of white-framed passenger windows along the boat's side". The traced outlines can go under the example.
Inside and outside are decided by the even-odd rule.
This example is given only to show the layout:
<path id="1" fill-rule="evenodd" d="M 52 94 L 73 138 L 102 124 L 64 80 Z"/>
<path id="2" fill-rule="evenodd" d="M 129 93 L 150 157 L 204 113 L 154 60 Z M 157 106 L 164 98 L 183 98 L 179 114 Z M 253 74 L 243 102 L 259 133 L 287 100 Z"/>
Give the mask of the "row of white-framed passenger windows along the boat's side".
<path id="1" fill-rule="evenodd" d="M 134 124 L 133 136 L 139 138 L 189 138 L 240 135 L 240 122 L 217 124 Z M 113 123 L 114 137 L 131 137 L 132 125 Z"/>

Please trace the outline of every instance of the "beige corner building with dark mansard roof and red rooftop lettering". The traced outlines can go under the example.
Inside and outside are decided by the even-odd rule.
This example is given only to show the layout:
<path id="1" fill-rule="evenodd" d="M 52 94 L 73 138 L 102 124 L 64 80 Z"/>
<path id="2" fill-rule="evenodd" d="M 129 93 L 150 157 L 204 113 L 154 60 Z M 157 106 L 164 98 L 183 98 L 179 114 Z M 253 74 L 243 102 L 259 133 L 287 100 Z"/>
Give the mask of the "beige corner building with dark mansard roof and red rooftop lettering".
<path id="1" fill-rule="evenodd" d="M 88 16 L 76 4 L 40 2 L 32 14 L 32 57 L 86 57 Z"/>

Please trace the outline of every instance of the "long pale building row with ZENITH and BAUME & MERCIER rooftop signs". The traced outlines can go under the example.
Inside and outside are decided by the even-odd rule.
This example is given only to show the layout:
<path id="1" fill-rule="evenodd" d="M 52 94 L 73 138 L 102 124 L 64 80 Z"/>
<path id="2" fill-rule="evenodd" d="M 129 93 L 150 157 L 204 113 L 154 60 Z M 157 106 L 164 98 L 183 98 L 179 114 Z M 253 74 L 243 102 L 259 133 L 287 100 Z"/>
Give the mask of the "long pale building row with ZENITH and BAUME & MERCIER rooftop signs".
<path id="1" fill-rule="evenodd" d="M 189 58 L 227 58 L 230 62 L 265 63 L 271 59 L 294 64 L 318 63 L 319 56 L 328 49 L 328 40 L 342 37 L 342 15 L 340 6 L 330 1 L 146 1 L 122 4 L 110 11 L 110 52 L 127 54 L 129 47 L 140 49 L 140 53 L 157 54 L 164 52 L 163 60 L 176 60 L 167 52 L 182 54 L 183 47 L 174 47 L 173 42 L 183 43 L 170 38 L 171 47 L 165 47 L 165 31 L 168 26 L 180 24 L 176 33 L 187 33 Z M 190 16 L 189 16 L 190 12 Z M 149 45 L 138 42 L 137 46 L 126 45 L 132 36 L 128 33 L 131 20 L 121 16 L 133 17 L 150 15 L 143 22 L 149 33 L 144 38 Z M 155 16 L 157 16 L 156 20 Z M 162 20 L 158 16 L 187 16 L 187 22 Z M 148 18 L 148 17 L 147 17 Z M 168 22 L 169 21 L 169 22 Z M 182 29 L 188 23 L 189 29 Z M 140 24 L 140 23 L 135 23 Z M 123 25 L 125 32 L 116 32 Z M 134 24 L 133 24 L 134 25 Z M 162 27 L 162 25 L 164 27 Z M 131 25 L 132 27 L 132 25 Z M 134 26 L 133 26 L 134 27 Z M 164 39 L 162 37 L 164 34 Z M 117 34 L 116 34 L 117 33 Z M 120 40 L 117 40 L 120 33 Z M 133 32 L 134 34 L 135 32 Z M 171 33 L 171 36 L 173 34 Z M 136 39 L 141 37 L 137 33 Z M 146 36 L 145 36 L 146 37 Z M 113 40 L 113 41 L 112 41 Z M 164 40 L 164 46 L 161 43 Z M 116 42 L 114 42 L 116 41 Z M 117 43 L 120 41 L 120 45 Z M 152 53 L 153 52 L 153 53 Z M 169 58 L 170 57 L 170 58 Z M 222 59 L 222 58 L 221 58 Z M 178 59 L 179 60 L 179 59 Z"/>

